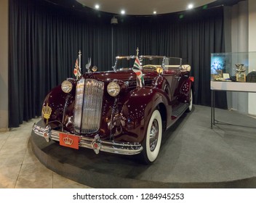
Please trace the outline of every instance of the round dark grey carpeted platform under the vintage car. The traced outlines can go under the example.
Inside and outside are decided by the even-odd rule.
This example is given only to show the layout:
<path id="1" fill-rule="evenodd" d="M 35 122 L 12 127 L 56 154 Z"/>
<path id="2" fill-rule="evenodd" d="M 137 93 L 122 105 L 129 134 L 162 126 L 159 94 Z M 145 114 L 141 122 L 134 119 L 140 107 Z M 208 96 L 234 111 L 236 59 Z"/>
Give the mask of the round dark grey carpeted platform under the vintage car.
<path id="1" fill-rule="evenodd" d="M 215 118 L 233 125 L 211 129 L 210 108 L 194 106 L 164 133 L 152 165 L 69 149 L 33 133 L 30 141 L 49 169 L 93 188 L 256 188 L 256 119 L 223 109 L 215 109 Z"/>

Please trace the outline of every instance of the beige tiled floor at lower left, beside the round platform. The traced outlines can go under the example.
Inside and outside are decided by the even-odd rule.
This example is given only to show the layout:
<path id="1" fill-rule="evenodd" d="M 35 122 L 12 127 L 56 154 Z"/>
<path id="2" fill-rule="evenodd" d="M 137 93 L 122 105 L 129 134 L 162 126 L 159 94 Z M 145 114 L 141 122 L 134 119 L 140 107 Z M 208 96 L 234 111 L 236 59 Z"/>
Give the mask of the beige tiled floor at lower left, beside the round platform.
<path id="1" fill-rule="evenodd" d="M 0 132 L 0 188 L 89 188 L 52 172 L 35 157 L 29 138 L 38 120 Z"/>

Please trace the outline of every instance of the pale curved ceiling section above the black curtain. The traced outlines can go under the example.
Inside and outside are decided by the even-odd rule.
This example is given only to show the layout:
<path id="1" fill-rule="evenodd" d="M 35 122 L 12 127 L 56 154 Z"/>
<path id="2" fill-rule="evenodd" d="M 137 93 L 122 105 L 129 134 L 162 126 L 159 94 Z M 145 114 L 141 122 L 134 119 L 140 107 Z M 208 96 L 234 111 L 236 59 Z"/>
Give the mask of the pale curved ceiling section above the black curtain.
<path id="1" fill-rule="evenodd" d="M 121 9 L 125 14 L 148 15 L 166 14 L 180 12 L 188 9 L 188 4 L 193 4 L 194 8 L 212 3 L 215 0 L 76 0 L 80 4 L 95 9 L 95 4 L 100 5 L 100 11 L 121 14 Z"/>

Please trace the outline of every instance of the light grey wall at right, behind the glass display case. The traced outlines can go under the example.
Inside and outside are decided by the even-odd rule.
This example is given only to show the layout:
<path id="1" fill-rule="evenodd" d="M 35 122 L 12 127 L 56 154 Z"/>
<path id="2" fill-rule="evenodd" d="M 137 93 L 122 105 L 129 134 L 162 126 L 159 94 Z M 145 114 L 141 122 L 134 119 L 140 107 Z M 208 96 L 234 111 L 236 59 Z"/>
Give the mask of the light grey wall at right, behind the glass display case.
<path id="1" fill-rule="evenodd" d="M 240 1 L 225 7 L 225 51 L 255 51 L 255 1 Z M 231 36 L 231 37 L 230 37 Z M 255 59 L 249 59 L 248 72 L 255 70 Z M 228 109 L 256 115 L 255 94 L 227 92 Z"/>

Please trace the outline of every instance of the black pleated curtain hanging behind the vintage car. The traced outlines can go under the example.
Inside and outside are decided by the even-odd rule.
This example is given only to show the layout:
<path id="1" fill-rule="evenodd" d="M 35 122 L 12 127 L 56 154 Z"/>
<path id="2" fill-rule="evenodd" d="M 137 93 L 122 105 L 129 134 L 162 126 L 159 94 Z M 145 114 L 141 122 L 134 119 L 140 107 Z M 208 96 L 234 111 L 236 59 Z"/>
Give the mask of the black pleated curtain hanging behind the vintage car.
<path id="1" fill-rule="evenodd" d="M 194 104 L 210 106 L 210 54 L 224 52 L 223 7 L 153 17 L 117 17 L 77 12 L 41 0 L 9 1 L 9 128 L 41 115 L 44 96 L 65 78 L 81 50 L 99 70 L 111 70 L 116 55 L 182 57 L 194 76 Z M 112 41 L 113 38 L 113 41 Z M 112 50 L 113 47 L 113 50 Z M 227 108 L 218 92 L 216 107 Z"/>

